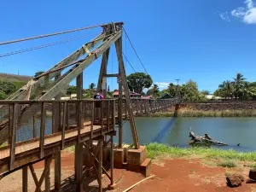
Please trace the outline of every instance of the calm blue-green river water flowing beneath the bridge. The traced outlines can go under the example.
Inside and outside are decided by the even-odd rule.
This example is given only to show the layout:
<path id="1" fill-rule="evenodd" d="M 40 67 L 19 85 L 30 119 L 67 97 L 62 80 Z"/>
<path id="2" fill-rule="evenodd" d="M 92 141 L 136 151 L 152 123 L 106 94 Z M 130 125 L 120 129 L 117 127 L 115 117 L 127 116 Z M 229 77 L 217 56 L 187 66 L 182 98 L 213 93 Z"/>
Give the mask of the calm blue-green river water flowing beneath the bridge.
<path id="1" fill-rule="evenodd" d="M 125 122 L 125 121 L 124 121 Z M 39 136 L 39 126 L 37 135 Z M 45 135 L 51 134 L 51 119 L 46 120 Z M 136 118 L 137 135 L 141 144 L 165 143 L 188 147 L 189 127 L 197 135 L 208 133 L 213 140 L 227 143 L 224 149 L 239 151 L 256 150 L 256 118 Z M 118 131 L 118 129 L 117 129 Z M 117 133 L 118 136 L 118 133 Z M 22 125 L 17 133 L 18 141 L 32 138 L 32 122 Z M 118 143 L 118 137 L 114 138 Z M 132 143 L 129 121 L 123 127 L 123 143 Z M 240 147 L 236 144 L 240 143 Z"/>

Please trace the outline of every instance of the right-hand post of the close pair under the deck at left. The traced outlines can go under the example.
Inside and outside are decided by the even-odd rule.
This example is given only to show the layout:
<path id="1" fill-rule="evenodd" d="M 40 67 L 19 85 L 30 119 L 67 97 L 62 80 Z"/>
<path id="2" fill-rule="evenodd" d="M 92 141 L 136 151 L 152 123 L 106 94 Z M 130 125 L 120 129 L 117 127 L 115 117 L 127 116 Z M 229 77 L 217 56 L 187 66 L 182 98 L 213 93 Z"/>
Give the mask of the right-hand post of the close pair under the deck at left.
<path id="1" fill-rule="evenodd" d="M 55 191 L 61 191 L 61 151 L 55 154 Z"/>

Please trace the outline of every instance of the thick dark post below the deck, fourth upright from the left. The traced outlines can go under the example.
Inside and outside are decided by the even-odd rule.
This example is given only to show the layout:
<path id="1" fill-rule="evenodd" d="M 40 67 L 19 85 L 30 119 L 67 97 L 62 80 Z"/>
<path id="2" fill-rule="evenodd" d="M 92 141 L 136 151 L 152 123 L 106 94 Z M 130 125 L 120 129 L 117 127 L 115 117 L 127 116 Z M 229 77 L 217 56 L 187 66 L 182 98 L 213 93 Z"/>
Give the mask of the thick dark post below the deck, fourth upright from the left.
<path id="1" fill-rule="evenodd" d="M 77 191 L 83 192 L 83 143 L 75 146 L 75 181 L 77 183 Z"/>

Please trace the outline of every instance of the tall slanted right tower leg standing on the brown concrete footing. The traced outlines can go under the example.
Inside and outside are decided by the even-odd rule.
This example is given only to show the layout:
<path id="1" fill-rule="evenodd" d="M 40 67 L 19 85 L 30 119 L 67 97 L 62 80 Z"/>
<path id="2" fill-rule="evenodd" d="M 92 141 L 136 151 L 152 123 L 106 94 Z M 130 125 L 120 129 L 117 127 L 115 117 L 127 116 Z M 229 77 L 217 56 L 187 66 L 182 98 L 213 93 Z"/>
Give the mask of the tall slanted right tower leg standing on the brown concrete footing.
<path id="1" fill-rule="evenodd" d="M 129 89 L 128 89 L 128 85 L 126 82 L 125 65 L 124 65 L 123 55 L 122 55 L 122 38 L 119 38 L 115 42 L 115 48 L 116 48 L 116 53 L 117 53 L 118 61 L 119 61 L 119 71 L 120 71 L 120 75 L 121 75 L 121 79 L 122 79 L 122 85 L 123 85 L 124 91 L 125 91 L 125 102 L 127 104 L 128 113 L 129 113 L 133 143 L 134 143 L 135 148 L 139 148 L 136 125 L 135 125 L 134 116 L 133 116 L 133 112 L 132 112 L 131 104 L 130 104 Z"/>

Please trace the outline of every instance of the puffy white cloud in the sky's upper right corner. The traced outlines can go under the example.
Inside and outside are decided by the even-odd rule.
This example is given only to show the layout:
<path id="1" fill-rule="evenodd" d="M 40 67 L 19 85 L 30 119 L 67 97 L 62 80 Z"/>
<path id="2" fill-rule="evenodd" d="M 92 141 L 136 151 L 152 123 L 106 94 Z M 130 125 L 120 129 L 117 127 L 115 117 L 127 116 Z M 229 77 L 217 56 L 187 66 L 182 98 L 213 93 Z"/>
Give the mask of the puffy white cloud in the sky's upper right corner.
<path id="1" fill-rule="evenodd" d="M 231 11 L 231 15 L 241 18 L 247 24 L 256 24 L 256 7 L 253 0 L 246 0 L 244 2 L 246 7 L 239 7 Z"/>

